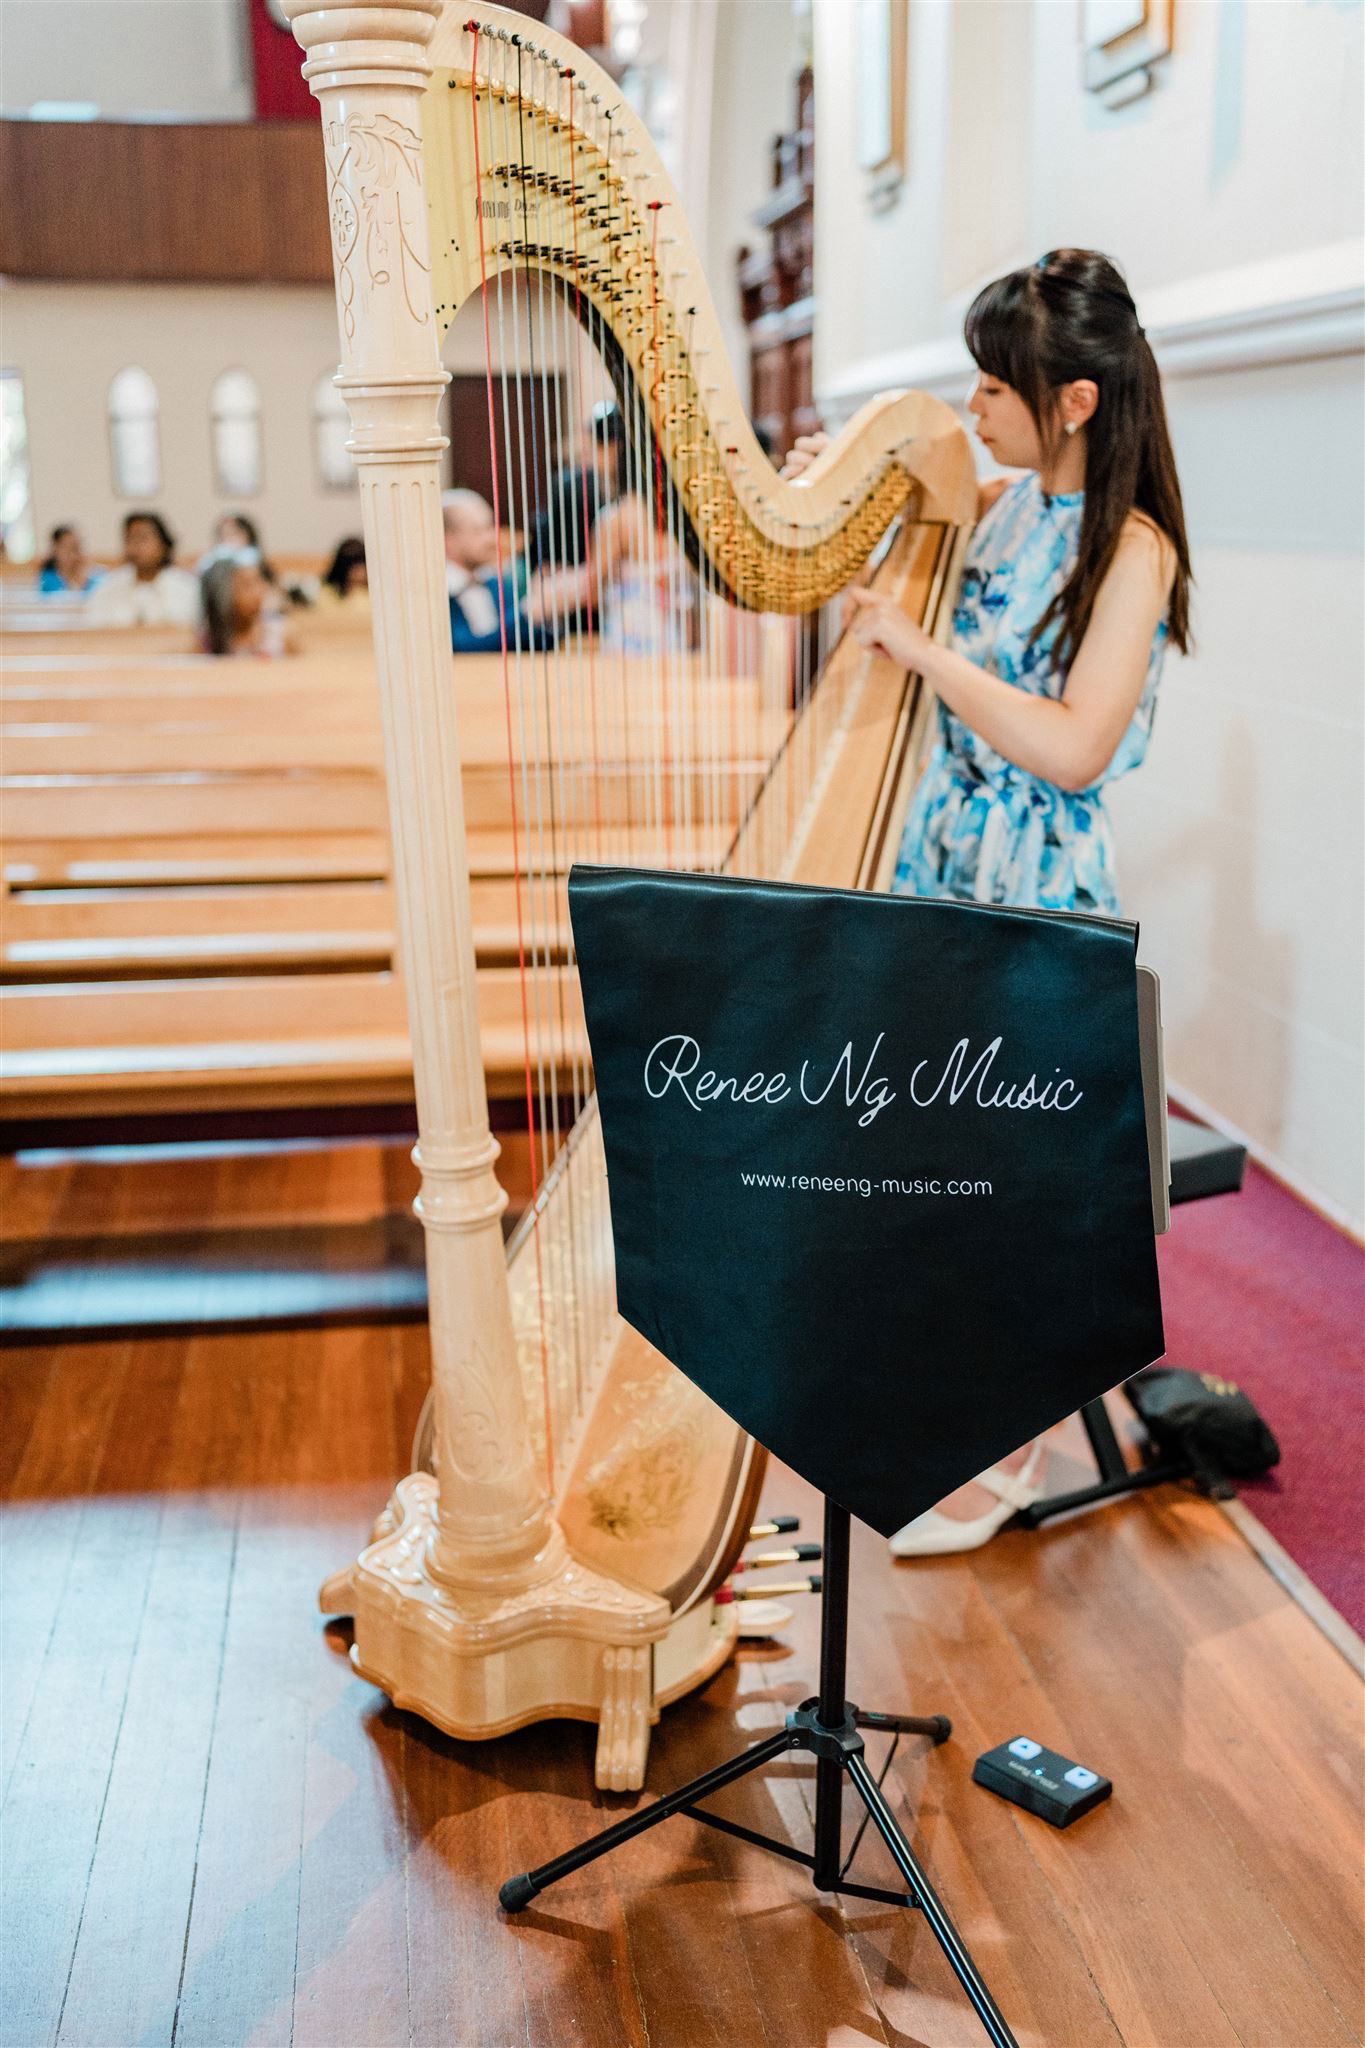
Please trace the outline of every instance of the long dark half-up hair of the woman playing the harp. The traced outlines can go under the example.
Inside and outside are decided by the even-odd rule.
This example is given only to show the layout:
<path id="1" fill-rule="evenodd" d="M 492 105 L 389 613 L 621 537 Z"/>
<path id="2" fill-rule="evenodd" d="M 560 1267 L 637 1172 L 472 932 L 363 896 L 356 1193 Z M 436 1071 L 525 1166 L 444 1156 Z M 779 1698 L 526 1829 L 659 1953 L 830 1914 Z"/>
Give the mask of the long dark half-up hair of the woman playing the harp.
<path id="1" fill-rule="evenodd" d="M 1050 250 L 976 295 L 966 346 L 986 377 L 999 377 L 1038 422 L 1044 459 L 1062 440 L 1058 387 L 1078 377 L 1099 385 L 1085 434 L 1085 510 L 1076 565 L 1038 621 L 1033 639 L 1060 618 L 1056 659 L 1074 657 L 1095 610 L 1130 512 L 1146 512 L 1175 549 L 1166 606 L 1171 645 L 1189 647 L 1189 543 L 1171 453 L 1160 371 L 1138 326 L 1138 307 L 1115 264 L 1097 250 Z"/>

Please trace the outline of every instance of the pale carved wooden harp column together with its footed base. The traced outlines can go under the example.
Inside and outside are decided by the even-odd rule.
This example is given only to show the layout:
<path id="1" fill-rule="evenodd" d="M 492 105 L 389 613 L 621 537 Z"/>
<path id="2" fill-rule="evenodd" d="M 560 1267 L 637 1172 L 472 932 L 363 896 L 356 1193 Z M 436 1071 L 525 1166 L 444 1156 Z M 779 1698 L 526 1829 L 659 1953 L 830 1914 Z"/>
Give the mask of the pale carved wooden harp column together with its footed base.
<path id="1" fill-rule="evenodd" d="M 440 522 L 422 172 L 442 0 L 284 0 L 321 104 L 342 369 L 375 608 L 399 950 L 417 1096 L 438 1481 L 399 1481 L 323 1587 L 356 1669 L 452 1735 L 544 1712 L 602 1722 L 598 1776 L 639 1784 L 661 1599 L 567 1550 L 532 1452 L 489 1130 Z"/>

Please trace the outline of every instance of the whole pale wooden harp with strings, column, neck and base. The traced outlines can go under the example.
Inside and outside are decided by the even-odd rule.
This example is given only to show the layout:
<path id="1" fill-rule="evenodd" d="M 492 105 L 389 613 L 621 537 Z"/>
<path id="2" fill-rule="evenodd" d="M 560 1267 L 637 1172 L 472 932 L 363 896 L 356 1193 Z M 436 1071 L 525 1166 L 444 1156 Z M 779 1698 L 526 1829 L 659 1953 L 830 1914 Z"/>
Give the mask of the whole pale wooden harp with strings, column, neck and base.
<path id="1" fill-rule="evenodd" d="M 876 555 L 943 625 L 972 461 L 945 406 L 902 395 L 776 477 L 659 158 L 573 45 L 469 0 L 284 8 L 323 115 L 432 1333 L 432 1468 L 321 1604 L 399 1706 L 460 1737 L 598 1720 L 598 1782 L 630 1788 L 659 1708 L 733 1647 L 712 1593 L 761 1452 L 616 1317 L 567 868 L 890 881 L 925 705 L 823 608 Z M 463 305 L 512 539 L 508 647 L 452 662 L 436 410 Z M 612 487 L 557 489 L 606 393 Z M 508 1251 L 493 1075 L 536 1180 Z"/>

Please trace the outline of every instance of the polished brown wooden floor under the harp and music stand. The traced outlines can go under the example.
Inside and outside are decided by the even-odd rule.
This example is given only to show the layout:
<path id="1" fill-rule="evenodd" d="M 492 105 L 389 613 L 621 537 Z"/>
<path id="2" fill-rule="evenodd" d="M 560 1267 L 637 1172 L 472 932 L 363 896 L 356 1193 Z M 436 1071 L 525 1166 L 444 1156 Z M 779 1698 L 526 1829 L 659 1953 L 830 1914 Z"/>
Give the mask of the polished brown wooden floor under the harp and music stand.
<path id="1" fill-rule="evenodd" d="M 6 2048 L 982 2038 L 919 1915 L 839 1913 L 686 1819 L 499 1917 L 503 1876 L 602 1823 L 589 1731 L 456 1747 L 313 1612 L 403 1470 L 422 1329 L 0 1372 Z M 767 1505 L 812 1532 L 790 1475 Z M 917 1567 L 857 1532 L 853 1575 L 853 1696 L 954 1718 L 888 1786 L 1021 2044 L 1361 2040 L 1357 1679 L 1216 1507 L 1166 1493 Z M 667 1712 L 653 1788 L 814 1690 L 819 1604 L 796 1606 L 786 1642 Z M 972 1786 L 1017 1733 L 1111 1774 L 1113 1802 L 1054 1833 Z M 780 1765 L 722 1810 L 802 1841 L 808 1798 Z M 872 1843 L 857 1868 L 890 1880 Z"/>

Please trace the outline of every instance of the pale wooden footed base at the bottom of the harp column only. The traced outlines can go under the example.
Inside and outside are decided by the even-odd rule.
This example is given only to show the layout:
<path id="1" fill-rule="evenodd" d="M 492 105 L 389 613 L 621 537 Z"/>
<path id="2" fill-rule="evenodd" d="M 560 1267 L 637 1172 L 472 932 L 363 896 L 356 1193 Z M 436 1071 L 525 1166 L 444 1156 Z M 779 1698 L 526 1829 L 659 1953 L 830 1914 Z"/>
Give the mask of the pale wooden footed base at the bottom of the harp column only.
<path id="1" fill-rule="evenodd" d="M 463 1741 L 489 1741 L 532 1720 L 596 1720 L 598 1786 L 636 1792 L 659 1718 L 655 1645 L 690 1624 L 698 1636 L 688 1645 L 692 1683 L 700 1683 L 729 1655 L 731 1632 L 692 1614 L 675 1624 L 667 1602 L 569 1552 L 538 1585 L 456 1595 L 428 1569 L 434 1528 L 436 1481 L 409 1473 L 368 1548 L 321 1587 L 325 1614 L 354 1618 L 356 1673 Z"/>

